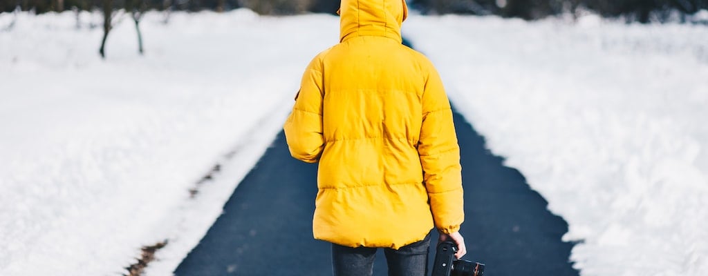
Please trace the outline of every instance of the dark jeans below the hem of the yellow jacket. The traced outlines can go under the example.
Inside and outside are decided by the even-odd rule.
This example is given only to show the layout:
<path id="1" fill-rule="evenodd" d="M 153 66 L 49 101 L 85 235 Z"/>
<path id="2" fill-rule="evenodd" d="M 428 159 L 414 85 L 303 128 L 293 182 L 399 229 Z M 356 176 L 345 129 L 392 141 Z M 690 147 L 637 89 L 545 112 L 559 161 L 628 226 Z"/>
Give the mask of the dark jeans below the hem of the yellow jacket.
<path id="1" fill-rule="evenodd" d="M 430 234 L 422 241 L 416 241 L 394 250 L 384 248 L 389 276 L 428 275 L 428 248 Z M 377 248 L 340 246 L 332 244 L 332 270 L 334 276 L 371 276 L 374 273 L 374 257 Z"/>

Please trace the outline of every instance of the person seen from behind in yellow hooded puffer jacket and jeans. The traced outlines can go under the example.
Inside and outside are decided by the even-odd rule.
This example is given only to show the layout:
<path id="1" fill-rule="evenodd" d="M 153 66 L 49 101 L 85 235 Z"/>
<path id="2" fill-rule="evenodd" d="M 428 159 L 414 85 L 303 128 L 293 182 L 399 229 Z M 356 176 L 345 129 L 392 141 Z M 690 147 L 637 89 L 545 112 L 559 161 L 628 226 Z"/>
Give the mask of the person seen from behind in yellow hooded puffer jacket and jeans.
<path id="1" fill-rule="evenodd" d="M 292 157 L 319 162 L 312 232 L 333 274 L 426 275 L 430 231 L 466 253 L 459 146 L 431 62 L 401 44 L 405 0 L 342 0 L 340 42 L 307 66 L 283 126 Z"/>

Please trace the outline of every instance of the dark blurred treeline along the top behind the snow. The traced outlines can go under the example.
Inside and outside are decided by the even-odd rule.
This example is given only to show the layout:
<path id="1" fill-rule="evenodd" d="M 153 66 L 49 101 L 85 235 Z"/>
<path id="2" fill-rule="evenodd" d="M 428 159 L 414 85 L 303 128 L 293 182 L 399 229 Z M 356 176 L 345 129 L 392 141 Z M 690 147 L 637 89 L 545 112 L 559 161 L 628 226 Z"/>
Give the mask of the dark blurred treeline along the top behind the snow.
<path id="1" fill-rule="evenodd" d="M 105 5 L 125 8 L 131 0 L 0 0 L 0 11 L 45 13 L 67 9 L 103 9 Z M 498 15 L 527 20 L 558 14 L 578 15 L 594 11 L 606 17 L 627 18 L 639 22 L 666 21 L 708 9 L 708 0 L 414 0 L 410 5 L 423 13 L 465 13 Z M 147 10 L 228 11 L 251 8 L 261 14 L 287 15 L 305 12 L 333 13 L 339 0 L 142 0 Z"/>

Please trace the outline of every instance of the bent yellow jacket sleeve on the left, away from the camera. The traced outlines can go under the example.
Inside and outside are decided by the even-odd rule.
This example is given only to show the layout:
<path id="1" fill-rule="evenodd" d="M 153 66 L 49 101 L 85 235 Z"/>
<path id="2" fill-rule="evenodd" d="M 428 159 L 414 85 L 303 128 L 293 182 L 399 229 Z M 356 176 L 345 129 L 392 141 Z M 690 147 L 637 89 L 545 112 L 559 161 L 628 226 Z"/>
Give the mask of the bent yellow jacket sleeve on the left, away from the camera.
<path id="1" fill-rule="evenodd" d="M 324 149 L 322 85 L 321 61 L 316 57 L 302 76 L 300 90 L 295 96 L 295 106 L 283 126 L 290 155 L 308 163 L 317 162 Z"/>

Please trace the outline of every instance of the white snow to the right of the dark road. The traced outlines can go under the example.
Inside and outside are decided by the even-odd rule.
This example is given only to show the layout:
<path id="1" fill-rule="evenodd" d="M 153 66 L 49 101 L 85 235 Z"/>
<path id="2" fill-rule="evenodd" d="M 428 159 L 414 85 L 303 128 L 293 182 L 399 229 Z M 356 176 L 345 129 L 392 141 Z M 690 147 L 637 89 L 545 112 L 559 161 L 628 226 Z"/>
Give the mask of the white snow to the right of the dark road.
<path id="1" fill-rule="evenodd" d="M 708 275 L 708 28 L 407 23 L 455 107 L 582 241 L 581 275 Z"/>

